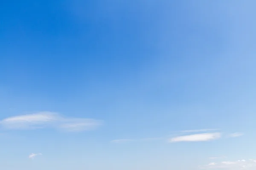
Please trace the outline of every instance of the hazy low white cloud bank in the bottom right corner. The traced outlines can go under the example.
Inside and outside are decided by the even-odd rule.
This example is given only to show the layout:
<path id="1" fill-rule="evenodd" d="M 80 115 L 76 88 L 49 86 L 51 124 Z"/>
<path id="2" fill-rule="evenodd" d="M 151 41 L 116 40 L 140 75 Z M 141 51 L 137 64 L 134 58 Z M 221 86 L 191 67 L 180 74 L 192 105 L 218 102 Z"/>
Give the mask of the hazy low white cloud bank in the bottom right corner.
<path id="1" fill-rule="evenodd" d="M 222 161 L 219 163 L 209 163 L 207 165 L 200 165 L 200 169 L 228 169 L 228 170 L 241 170 L 247 168 L 254 170 L 256 167 L 256 160 L 249 159 L 248 161 L 242 159 L 238 161 Z"/>

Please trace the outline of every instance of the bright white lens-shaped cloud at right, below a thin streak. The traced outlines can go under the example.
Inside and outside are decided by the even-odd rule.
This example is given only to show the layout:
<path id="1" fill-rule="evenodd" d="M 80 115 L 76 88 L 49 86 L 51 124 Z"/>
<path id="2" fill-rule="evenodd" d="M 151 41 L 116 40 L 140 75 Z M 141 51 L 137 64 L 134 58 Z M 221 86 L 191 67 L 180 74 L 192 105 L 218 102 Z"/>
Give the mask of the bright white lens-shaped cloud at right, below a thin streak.
<path id="1" fill-rule="evenodd" d="M 199 133 L 186 136 L 177 136 L 169 139 L 169 142 L 201 142 L 211 141 L 221 137 L 221 133 Z"/>

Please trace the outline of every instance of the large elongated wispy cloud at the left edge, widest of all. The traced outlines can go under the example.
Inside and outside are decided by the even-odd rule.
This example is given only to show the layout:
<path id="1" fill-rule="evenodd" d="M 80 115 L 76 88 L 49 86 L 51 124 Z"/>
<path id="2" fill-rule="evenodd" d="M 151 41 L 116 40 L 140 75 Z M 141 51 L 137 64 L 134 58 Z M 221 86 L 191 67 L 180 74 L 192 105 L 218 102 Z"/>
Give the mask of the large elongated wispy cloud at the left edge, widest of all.
<path id="1" fill-rule="evenodd" d="M 6 129 L 16 130 L 51 127 L 66 131 L 84 131 L 92 130 L 102 125 L 102 121 L 96 119 L 66 118 L 58 113 L 39 112 L 9 117 L 0 121 L 0 125 Z"/>

